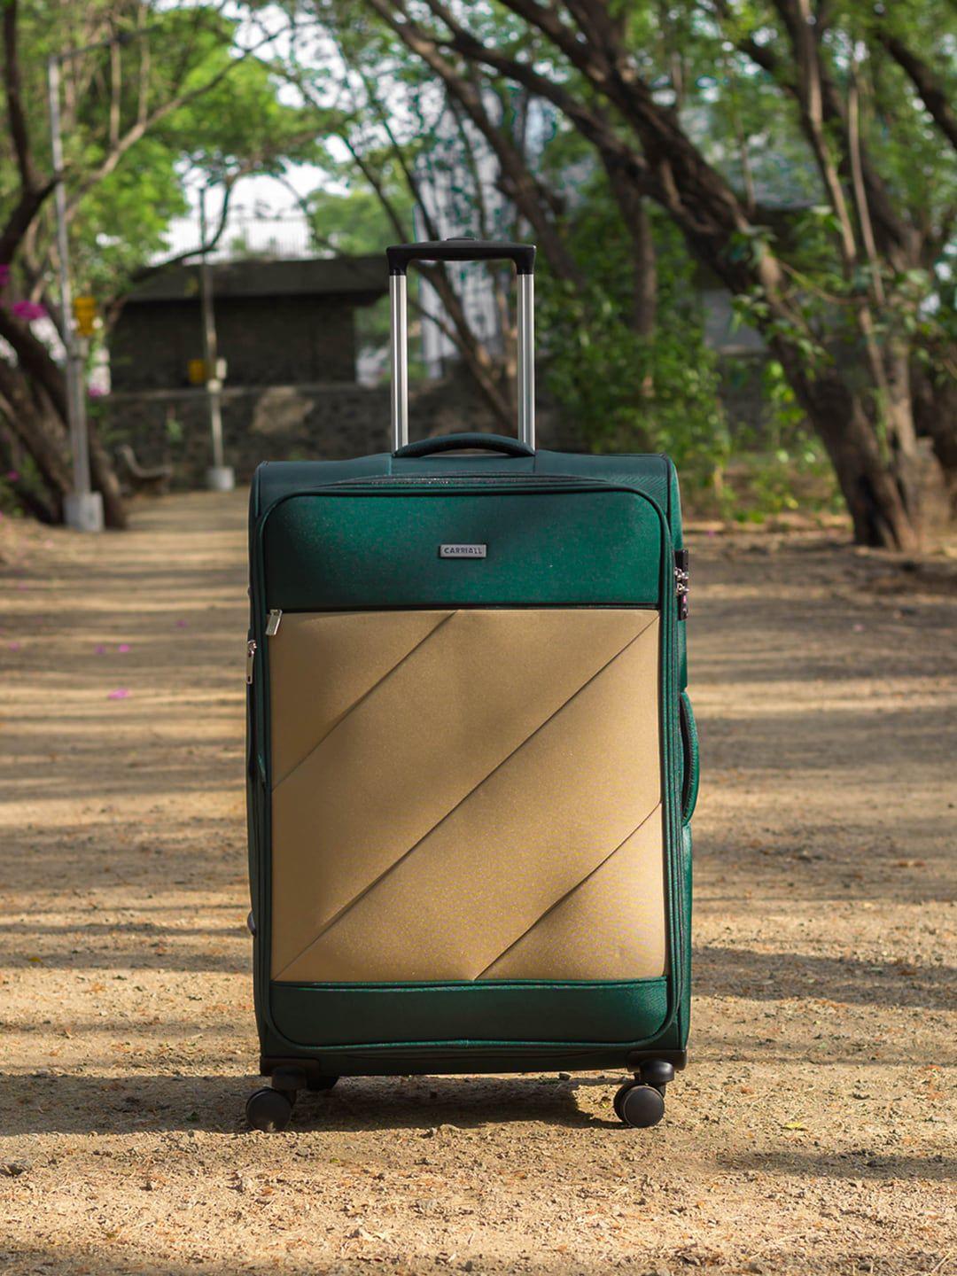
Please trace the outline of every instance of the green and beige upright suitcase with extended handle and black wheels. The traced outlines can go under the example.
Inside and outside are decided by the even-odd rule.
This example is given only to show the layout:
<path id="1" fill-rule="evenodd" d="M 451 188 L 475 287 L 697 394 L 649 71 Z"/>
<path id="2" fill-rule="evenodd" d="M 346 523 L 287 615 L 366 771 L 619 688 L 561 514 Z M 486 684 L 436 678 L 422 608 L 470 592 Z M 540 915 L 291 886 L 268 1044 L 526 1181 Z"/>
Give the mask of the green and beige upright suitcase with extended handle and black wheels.
<path id="1" fill-rule="evenodd" d="M 408 443 L 406 269 L 510 260 L 518 438 Z M 341 1076 L 685 1064 L 698 785 L 664 456 L 535 447 L 535 248 L 387 250 L 393 448 L 251 486 L 249 1124 Z M 464 453 L 464 454 L 463 454 Z"/>

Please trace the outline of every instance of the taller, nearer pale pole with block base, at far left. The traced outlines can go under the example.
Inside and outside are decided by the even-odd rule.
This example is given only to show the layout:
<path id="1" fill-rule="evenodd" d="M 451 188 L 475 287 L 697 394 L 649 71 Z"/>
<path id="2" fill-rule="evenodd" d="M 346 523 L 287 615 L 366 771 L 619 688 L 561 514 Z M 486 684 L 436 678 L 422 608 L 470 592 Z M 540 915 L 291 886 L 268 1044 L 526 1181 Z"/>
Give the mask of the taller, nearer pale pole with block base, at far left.
<path id="1" fill-rule="evenodd" d="M 60 60 L 47 60 L 50 91 L 50 145 L 54 160 L 56 249 L 60 258 L 60 324 L 66 347 L 66 417 L 73 454 L 73 491 L 66 495 L 64 513 L 69 527 L 82 532 L 103 530 L 103 499 L 91 491 L 89 440 L 87 436 L 87 401 L 83 387 L 83 342 L 73 324 L 70 290 L 70 242 L 66 231 L 66 186 L 63 171 L 63 137 L 60 131 Z"/>

